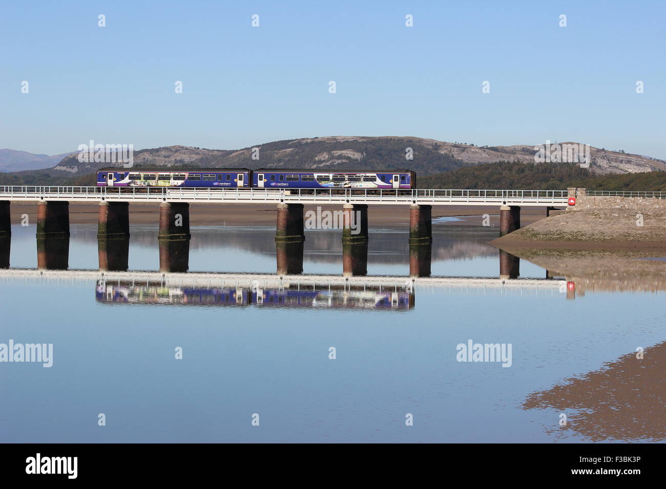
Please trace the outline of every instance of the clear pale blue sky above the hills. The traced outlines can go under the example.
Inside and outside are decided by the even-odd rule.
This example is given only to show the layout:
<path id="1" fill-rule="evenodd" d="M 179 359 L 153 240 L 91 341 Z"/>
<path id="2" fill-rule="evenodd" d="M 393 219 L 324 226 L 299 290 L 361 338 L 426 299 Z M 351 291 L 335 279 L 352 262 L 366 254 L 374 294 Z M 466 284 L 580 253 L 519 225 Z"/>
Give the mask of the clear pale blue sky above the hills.
<path id="1" fill-rule="evenodd" d="M 93 139 L 233 149 L 394 135 L 573 140 L 666 159 L 663 0 L 0 8 L 0 148 L 57 154 Z M 106 27 L 97 27 L 99 14 Z M 407 14 L 414 27 L 405 27 Z"/>

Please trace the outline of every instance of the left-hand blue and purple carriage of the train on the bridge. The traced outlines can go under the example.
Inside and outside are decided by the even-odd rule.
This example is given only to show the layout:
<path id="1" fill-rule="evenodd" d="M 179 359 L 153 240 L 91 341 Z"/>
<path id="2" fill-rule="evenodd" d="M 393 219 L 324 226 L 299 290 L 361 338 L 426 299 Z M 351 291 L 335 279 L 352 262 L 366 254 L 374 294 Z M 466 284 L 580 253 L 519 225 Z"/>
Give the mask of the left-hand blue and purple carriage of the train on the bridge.
<path id="1" fill-rule="evenodd" d="M 245 188 L 251 185 L 248 168 L 101 168 L 98 187 Z"/>

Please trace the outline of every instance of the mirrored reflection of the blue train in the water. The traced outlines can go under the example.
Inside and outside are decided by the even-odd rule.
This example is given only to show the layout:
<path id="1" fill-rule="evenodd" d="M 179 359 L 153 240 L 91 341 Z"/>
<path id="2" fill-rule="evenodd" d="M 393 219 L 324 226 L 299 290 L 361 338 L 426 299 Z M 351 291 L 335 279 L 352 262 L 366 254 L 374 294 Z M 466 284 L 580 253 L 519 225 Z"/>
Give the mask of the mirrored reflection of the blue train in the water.
<path id="1" fill-rule="evenodd" d="M 162 283 L 99 281 L 95 297 L 102 303 L 176 305 L 250 305 L 340 309 L 412 309 L 414 293 L 381 287 L 167 287 Z"/>

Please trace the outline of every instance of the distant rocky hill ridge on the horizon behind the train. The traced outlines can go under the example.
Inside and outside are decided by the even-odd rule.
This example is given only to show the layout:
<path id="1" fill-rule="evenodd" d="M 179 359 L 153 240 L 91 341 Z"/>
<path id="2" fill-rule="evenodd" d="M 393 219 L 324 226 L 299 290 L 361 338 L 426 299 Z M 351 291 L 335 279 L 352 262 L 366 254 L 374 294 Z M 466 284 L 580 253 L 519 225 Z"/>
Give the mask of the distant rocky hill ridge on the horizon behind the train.
<path id="1" fill-rule="evenodd" d="M 575 143 L 560 143 L 575 144 Z M 257 148 L 257 150 L 254 150 Z M 412 159 L 406 154 L 412 153 Z M 410 168 L 420 175 L 441 174 L 464 166 L 500 161 L 534 162 L 534 146 L 474 146 L 457 142 L 398 136 L 326 136 L 258 144 L 240 150 L 210 150 L 190 146 L 165 146 L 137 150 L 134 166 L 188 166 L 190 168 Z M 252 156 L 258 154 L 258 159 Z M 656 158 L 590 148 L 594 174 L 622 174 L 666 170 Z M 79 162 L 77 153 L 62 158 L 48 169 L 5 174 L 5 184 L 36 178 L 72 178 L 109 166 L 103 162 Z M 39 156 L 39 155 L 35 155 Z M 52 157 L 51 157 L 52 158 Z"/>

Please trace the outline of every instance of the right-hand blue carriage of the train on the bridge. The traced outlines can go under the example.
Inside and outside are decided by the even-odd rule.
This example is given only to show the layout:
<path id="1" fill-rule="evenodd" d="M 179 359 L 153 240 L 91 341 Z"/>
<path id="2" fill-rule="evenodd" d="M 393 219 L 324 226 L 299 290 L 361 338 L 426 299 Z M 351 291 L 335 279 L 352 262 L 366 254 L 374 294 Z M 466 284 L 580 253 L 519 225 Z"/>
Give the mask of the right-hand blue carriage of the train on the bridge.
<path id="1" fill-rule="evenodd" d="M 252 176 L 254 188 L 416 188 L 416 173 L 410 170 L 294 170 L 258 168 Z"/>

